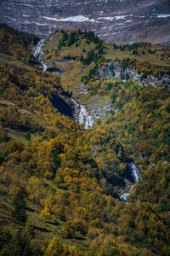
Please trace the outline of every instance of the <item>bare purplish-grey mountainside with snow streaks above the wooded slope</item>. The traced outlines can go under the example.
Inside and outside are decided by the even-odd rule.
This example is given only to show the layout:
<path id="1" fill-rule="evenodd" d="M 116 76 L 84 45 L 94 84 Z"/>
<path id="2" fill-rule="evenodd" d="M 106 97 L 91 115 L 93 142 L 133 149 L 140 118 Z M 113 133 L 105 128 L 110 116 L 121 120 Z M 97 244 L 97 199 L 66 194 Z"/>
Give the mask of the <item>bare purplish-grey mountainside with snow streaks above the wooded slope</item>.
<path id="1" fill-rule="evenodd" d="M 170 44 L 169 0 L 1 0 L 0 7 L 0 22 L 40 37 L 81 28 L 118 44 Z"/>

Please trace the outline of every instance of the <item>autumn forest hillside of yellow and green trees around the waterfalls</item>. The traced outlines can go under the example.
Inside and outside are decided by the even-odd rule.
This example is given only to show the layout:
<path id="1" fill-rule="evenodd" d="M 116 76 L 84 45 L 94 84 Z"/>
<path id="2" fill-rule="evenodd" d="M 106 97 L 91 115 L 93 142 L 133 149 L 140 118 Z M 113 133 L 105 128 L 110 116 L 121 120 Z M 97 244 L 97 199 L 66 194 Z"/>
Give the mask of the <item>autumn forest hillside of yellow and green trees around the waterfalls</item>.
<path id="1" fill-rule="evenodd" d="M 56 74 L 39 40 L 0 26 L 0 255 L 170 255 L 169 47 L 56 31 Z M 71 96 L 112 110 L 85 130 Z"/>

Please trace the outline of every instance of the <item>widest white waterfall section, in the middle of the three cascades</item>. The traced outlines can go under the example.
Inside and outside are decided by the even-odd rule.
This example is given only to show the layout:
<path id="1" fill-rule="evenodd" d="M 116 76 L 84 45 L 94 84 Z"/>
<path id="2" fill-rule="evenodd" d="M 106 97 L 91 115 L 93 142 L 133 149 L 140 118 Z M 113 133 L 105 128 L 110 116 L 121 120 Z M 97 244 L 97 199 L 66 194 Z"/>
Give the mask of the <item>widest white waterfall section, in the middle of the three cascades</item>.
<path id="1" fill-rule="evenodd" d="M 73 98 L 71 98 L 71 101 L 75 104 L 75 121 L 79 125 L 83 124 L 86 130 L 92 127 L 94 125 L 94 117 L 88 113 L 87 108 L 78 104 Z"/>

